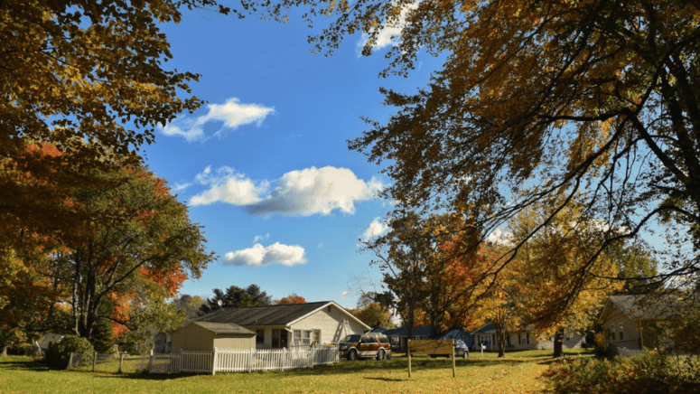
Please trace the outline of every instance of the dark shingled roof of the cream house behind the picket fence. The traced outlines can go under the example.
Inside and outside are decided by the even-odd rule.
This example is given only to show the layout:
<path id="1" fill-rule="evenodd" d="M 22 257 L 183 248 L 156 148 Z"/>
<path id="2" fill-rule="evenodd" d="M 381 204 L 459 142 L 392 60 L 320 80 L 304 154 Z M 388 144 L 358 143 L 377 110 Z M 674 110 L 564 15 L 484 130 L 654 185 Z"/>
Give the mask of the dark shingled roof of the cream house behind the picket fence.
<path id="1" fill-rule="evenodd" d="M 281 326 L 310 314 L 331 301 L 306 304 L 250 306 L 246 308 L 224 308 L 205 314 L 195 321 L 211 323 L 234 323 L 244 326 Z"/>

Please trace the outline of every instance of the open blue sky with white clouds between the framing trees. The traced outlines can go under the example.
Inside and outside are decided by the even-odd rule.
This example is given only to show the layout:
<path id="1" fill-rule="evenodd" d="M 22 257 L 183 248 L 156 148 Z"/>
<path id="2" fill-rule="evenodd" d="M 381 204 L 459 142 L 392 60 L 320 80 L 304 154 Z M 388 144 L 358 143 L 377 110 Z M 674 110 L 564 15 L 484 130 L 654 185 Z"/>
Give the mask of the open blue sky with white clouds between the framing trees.
<path id="1" fill-rule="evenodd" d="M 163 26 L 173 60 L 167 67 L 201 74 L 192 93 L 208 101 L 159 130 L 145 162 L 166 179 L 190 218 L 204 226 L 219 256 L 182 294 L 257 284 L 273 298 L 354 307 L 357 278 L 378 284 L 371 256 L 358 239 L 382 230 L 391 209 L 376 192 L 390 180 L 346 141 L 383 121 L 385 86 L 412 92 L 425 86 L 437 61 L 421 59 L 409 78 L 378 78 L 391 45 L 387 29 L 375 54 L 359 56 L 361 35 L 331 57 L 313 54 L 312 33 L 299 19 L 259 21 L 185 12 Z"/>

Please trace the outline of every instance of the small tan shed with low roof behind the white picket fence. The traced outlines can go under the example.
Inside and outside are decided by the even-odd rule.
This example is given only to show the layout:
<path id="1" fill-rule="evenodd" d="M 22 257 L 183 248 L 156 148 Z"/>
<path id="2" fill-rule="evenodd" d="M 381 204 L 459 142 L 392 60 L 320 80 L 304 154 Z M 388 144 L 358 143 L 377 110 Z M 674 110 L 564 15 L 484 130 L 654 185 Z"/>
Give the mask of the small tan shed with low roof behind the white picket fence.
<path id="1" fill-rule="evenodd" d="M 233 323 L 190 322 L 175 330 L 172 338 L 172 352 L 256 347 L 256 333 Z"/>

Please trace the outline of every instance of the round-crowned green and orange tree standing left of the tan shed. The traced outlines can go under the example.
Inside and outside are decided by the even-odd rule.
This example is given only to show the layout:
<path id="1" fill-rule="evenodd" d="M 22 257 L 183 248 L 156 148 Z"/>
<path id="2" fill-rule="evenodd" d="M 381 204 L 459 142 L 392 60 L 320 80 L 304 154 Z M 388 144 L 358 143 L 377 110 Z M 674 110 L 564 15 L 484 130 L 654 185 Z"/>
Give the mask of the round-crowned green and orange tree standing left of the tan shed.
<path id="1" fill-rule="evenodd" d="M 90 338 L 98 319 L 131 328 L 130 309 L 139 297 L 173 297 L 188 277 L 200 277 L 213 258 L 201 226 L 192 223 L 165 181 L 142 167 L 99 174 L 120 178 L 117 188 L 82 188 L 66 202 L 80 217 L 70 243 L 46 241 L 28 255 L 31 267 L 64 289 L 72 330 Z M 47 255 L 48 253 L 48 255 Z M 113 314 L 101 314 L 103 305 Z"/>

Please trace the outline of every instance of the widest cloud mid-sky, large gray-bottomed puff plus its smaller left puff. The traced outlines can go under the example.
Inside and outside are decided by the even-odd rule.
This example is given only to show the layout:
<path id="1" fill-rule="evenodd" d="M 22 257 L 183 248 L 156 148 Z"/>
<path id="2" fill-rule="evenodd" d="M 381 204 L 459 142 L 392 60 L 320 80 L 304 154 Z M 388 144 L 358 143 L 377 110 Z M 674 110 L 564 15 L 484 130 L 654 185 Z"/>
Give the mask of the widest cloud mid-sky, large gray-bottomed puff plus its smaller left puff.
<path id="1" fill-rule="evenodd" d="M 210 189 L 194 196 L 192 205 L 228 202 L 244 206 L 254 215 L 328 215 L 331 211 L 354 213 L 355 202 L 375 198 L 383 184 L 375 178 L 358 179 L 347 168 L 311 167 L 284 174 L 270 190 L 268 181 L 254 182 L 229 167 L 212 174 L 210 167 L 197 175 L 197 181 Z"/>

